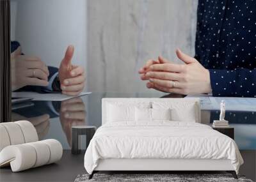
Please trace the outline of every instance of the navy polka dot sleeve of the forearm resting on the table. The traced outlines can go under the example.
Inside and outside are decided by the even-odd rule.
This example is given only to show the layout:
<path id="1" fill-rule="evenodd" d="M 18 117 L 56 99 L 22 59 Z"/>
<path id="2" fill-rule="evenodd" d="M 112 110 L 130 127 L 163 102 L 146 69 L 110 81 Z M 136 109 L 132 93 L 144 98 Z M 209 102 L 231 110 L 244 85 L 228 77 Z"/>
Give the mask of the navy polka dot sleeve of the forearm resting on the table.
<path id="1" fill-rule="evenodd" d="M 256 69 L 209 69 L 212 96 L 256 97 Z"/>

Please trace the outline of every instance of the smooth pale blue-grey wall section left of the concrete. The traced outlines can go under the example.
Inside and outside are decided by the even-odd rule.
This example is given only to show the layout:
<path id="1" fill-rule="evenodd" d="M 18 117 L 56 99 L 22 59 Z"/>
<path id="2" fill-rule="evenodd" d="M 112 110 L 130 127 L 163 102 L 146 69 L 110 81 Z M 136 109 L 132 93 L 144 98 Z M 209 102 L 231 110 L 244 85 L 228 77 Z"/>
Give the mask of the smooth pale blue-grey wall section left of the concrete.
<path id="1" fill-rule="evenodd" d="M 86 68 L 86 1 L 12 0 L 15 3 L 13 34 L 21 43 L 22 52 L 58 67 L 67 46 L 73 44 L 73 63 Z"/>

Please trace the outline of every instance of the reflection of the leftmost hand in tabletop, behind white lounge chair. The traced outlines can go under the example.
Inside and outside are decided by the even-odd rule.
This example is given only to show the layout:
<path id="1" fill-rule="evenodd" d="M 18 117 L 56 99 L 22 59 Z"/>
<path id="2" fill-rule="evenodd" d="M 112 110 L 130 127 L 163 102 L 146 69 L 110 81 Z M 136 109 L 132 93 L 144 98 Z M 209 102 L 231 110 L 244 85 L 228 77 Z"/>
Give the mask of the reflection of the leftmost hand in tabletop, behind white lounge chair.
<path id="1" fill-rule="evenodd" d="M 32 125 L 35 126 L 39 140 L 44 139 L 44 136 L 49 132 L 49 128 L 50 128 L 49 119 L 50 119 L 49 114 L 42 114 L 41 116 L 26 118 L 24 116 L 21 116 L 20 114 L 12 112 L 13 121 L 26 120 L 31 122 Z"/>

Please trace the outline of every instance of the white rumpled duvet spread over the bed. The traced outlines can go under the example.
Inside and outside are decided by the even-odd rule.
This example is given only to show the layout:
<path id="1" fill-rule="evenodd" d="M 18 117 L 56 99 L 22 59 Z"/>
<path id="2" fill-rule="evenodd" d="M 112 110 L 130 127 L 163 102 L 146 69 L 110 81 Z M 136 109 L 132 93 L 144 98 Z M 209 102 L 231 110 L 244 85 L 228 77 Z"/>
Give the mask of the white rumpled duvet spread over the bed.
<path id="1" fill-rule="evenodd" d="M 243 164 L 230 137 L 207 125 L 177 121 L 100 126 L 84 155 L 86 171 L 92 174 L 99 159 L 106 158 L 229 159 L 237 174 Z"/>

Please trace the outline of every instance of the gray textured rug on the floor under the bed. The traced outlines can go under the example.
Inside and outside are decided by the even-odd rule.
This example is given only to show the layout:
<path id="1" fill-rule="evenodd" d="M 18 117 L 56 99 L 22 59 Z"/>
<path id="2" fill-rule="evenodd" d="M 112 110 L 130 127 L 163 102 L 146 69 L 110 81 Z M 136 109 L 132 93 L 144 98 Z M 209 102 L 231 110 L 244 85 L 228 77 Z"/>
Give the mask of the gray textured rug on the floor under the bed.
<path id="1" fill-rule="evenodd" d="M 209 181 L 209 182 L 253 182 L 246 179 L 244 176 L 238 176 L 239 179 L 234 179 L 231 174 L 94 174 L 92 179 L 88 179 L 88 174 L 78 175 L 75 182 L 93 182 L 93 181 L 136 181 L 136 182 L 150 182 L 150 181 L 171 181 L 171 182 L 190 182 L 190 181 Z"/>

